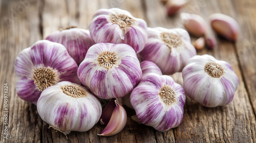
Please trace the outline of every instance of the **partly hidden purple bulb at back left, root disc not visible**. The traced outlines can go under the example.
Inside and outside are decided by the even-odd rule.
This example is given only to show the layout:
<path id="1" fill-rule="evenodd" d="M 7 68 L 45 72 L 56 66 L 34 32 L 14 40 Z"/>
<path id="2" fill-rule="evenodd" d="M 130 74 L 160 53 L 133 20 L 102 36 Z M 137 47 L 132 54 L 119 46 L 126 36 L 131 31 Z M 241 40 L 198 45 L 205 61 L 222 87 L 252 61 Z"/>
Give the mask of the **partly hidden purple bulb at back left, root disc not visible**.
<path id="1" fill-rule="evenodd" d="M 89 30 L 76 27 L 56 31 L 46 37 L 46 40 L 63 44 L 78 65 L 86 57 L 89 47 L 95 44 Z"/>

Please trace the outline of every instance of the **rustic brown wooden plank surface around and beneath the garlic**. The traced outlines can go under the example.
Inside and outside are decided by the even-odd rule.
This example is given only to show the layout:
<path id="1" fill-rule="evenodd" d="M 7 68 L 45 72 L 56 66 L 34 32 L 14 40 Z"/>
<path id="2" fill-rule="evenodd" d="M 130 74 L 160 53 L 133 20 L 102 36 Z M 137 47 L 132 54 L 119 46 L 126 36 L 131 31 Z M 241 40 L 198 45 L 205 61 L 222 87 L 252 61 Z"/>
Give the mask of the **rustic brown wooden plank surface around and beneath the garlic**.
<path id="1" fill-rule="evenodd" d="M 17 54 L 58 28 L 69 25 L 88 28 L 93 14 L 100 8 L 117 7 L 143 18 L 148 27 L 183 28 L 179 14 L 168 17 L 158 0 L 0 0 L 0 142 L 256 142 L 256 1 L 192 0 L 181 11 L 201 15 L 208 22 L 212 13 L 234 17 L 241 28 L 236 43 L 216 36 L 218 46 L 204 49 L 231 64 L 240 85 L 233 101 L 223 107 L 206 108 L 188 97 L 180 126 L 167 132 L 137 124 L 131 119 L 135 111 L 127 109 L 127 125 L 117 135 L 98 136 L 103 126 L 96 124 L 87 132 L 65 135 L 48 129 L 36 106 L 17 97 L 14 63 Z M 192 37 L 192 42 L 196 38 Z M 172 77 L 182 84 L 181 73 Z M 4 83 L 8 83 L 8 139 L 4 137 Z"/>

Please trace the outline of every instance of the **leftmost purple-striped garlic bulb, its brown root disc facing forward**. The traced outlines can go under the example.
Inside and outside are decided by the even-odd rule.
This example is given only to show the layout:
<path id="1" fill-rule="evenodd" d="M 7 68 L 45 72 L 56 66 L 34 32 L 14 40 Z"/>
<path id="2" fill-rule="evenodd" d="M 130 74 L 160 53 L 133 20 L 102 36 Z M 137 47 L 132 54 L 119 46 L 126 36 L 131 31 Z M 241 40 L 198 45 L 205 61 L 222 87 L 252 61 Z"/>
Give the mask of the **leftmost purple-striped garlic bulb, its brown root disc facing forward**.
<path id="1" fill-rule="evenodd" d="M 20 98 L 36 105 L 41 92 L 60 81 L 80 83 L 77 64 L 65 46 L 40 40 L 24 49 L 16 58 L 15 73 L 19 77 L 16 91 Z"/>

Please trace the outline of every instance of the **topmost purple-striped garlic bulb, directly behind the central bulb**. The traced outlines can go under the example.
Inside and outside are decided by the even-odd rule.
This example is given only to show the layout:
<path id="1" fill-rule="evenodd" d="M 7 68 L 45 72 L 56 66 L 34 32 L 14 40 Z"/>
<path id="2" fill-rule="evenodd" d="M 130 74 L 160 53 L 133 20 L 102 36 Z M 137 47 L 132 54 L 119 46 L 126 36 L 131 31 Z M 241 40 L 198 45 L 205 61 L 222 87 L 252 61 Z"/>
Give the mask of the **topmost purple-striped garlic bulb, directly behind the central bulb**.
<path id="1" fill-rule="evenodd" d="M 147 41 L 146 22 L 118 8 L 98 10 L 90 24 L 90 33 L 96 43 L 125 43 L 136 53 L 143 50 Z"/>

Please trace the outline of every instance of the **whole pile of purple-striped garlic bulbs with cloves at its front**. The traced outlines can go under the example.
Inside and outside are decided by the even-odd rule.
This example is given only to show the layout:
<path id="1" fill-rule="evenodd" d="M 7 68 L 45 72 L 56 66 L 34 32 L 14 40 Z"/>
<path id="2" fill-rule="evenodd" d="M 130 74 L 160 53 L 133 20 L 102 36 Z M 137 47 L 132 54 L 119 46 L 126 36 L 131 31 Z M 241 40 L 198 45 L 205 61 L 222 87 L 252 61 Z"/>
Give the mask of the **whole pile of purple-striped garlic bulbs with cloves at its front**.
<path id="1" fill-rule="evenodd" d="M 128 11 L 100 9 L 89 30 L 68 27 L 20 52 L 16 91 L 65 135 L 88 131 L 99 121 L 106 127 L 98 135 L 119 133 L 127 120 L 122 105 L 163 132 L 180 125 L 185 93 L 216 107 L 231 102 L 238 88 L 230 64 L 196 54 L 183 29 L 147 28 Z M 183 87 L 162 75 L 181 71 Z M 109 101 L 103 110 L 99 99 Z"/>

